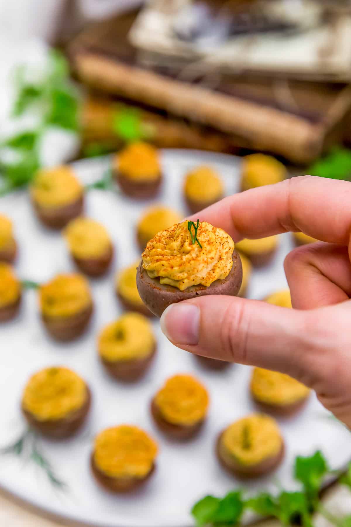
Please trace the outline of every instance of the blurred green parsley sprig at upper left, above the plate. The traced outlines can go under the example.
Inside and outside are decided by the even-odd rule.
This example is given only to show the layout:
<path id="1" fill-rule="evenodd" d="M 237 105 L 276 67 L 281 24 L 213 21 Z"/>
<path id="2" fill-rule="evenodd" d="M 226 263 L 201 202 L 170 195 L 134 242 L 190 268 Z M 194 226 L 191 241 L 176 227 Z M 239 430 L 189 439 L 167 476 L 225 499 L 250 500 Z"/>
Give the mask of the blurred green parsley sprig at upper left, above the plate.
<path id="1" fill-rule="evenodd" d="M 21 131 L 0 143 L 0 196 L 32 181 L 41 167 L 39 150 L 47 128 L 56 126 L 71 132 L 79 129 L 79 96 L 68 79 L 66 58 L 51 50 L 43 79 L 28 82 L 27 73 L 25 65 L 16 71 L 12 115 L 19 118 L 34 109 L 38 124 L 33 130 Z M 11 153 L 11 161 L 6 152 Z"/>

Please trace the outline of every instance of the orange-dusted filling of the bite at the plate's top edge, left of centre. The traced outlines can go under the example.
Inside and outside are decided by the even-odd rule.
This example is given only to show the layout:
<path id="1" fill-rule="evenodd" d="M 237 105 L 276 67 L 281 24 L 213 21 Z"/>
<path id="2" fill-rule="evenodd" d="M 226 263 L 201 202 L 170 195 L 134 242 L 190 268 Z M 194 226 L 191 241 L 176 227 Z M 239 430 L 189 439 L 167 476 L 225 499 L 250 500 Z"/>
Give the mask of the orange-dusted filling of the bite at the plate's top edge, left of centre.
<path id="1" fill-rule="evenodd" d="M 125 177 L 138 181 L 155 181 L 161 174 L 158 152 L 151 144 L 129 144 L 115 158 L 115 168 Z"/>

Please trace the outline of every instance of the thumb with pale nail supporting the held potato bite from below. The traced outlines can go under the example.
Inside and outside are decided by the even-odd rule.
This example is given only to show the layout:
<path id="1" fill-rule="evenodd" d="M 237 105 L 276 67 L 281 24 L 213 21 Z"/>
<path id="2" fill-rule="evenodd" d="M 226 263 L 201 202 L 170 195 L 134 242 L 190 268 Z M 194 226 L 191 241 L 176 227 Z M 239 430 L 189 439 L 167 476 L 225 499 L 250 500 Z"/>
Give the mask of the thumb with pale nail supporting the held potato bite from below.
<path id="1" fill-rule="evenodd" d="M 309 317 L 316 319 L 313 311 L 213 295 L 167 307 L 161 328 L 188 352 L 273 369 L 312 386 L 318 382 L 314 365 L 320 363 L 314 358 L 322 339 Z"/>

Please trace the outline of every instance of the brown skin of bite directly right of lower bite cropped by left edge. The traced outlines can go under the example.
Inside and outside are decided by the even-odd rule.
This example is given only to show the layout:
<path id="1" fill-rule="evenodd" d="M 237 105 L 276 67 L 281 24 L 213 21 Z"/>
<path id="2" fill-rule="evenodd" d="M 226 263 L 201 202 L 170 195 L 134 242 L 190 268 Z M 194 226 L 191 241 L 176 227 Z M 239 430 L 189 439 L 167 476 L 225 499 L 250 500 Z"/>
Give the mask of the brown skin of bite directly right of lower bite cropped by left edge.
<path id="1" fill-rule="evenodd" d="M 56 340 L 67 342 L 80 337 L 93 314 L 93 304 L 71 317 L 52 318 L 42 314 L 43 323 L 48 333 Z"/>

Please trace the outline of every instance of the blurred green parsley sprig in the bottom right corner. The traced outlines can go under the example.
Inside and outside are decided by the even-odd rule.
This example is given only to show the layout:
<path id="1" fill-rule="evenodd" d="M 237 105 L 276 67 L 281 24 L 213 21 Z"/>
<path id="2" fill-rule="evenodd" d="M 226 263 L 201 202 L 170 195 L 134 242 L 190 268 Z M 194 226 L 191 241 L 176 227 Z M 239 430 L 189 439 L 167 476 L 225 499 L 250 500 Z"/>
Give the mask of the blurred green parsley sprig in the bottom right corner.
<path id="1" fill-rule="evenodd" d="M 303 527 L 313 527 L 312 515 L 318 511 L 337 527 L 351 527 L 351 516 L 336 518 L 319 502 L 319 490 L 328 469 L 323 454 L 319 451 L 312 456 L 297 456 L 294 464 L 295 479 L 302 484 L 297 492 L 281 490 L 278 495 L 268 492 L 257 494 L 245 499 L 244 491 L 235 490 L 223 498 L 208 495 L 199 500 L 192 508 L 197 525 L 212 525 L 214 527 L 229 527 L 237 525 L 246 510 L 251 510 L 262 516 L 273 516 L 283 525 L 300 524 Z M 348 471 L 340 480 L 351 489 L 351 463 Z"/>

